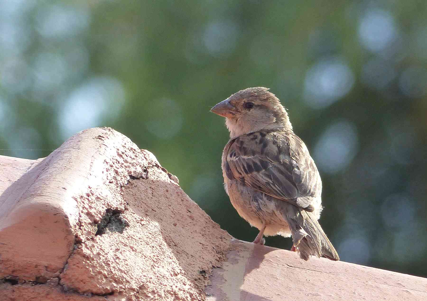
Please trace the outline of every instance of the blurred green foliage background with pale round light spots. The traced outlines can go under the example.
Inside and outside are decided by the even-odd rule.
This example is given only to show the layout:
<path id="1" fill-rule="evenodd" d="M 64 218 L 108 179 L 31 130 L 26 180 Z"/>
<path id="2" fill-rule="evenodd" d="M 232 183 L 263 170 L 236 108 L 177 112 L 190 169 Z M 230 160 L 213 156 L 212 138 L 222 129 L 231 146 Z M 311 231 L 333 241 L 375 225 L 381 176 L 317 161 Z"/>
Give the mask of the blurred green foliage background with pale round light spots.
<path id="1" fill-rule="evenodd" d="M 0 154 L 110 126 L 152 151 L 231 235 L 210 107 L 271 88 L 322 175 L 342 260 L 427 276 L 425 1 L 1 0 Z M 290 248 L 291 240 L 266 244 Z"/>

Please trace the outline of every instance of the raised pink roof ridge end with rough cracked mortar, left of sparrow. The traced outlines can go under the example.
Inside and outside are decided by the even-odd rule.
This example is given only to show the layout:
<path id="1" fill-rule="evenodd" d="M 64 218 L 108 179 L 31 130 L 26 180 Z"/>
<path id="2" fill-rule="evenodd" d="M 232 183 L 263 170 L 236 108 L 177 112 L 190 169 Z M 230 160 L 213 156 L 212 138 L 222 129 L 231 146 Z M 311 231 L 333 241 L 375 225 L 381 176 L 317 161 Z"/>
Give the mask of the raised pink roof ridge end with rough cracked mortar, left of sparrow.
<path id="1" fill-rule="evenodd" d="M 231 236 L 111 128 L 0 156 L 0 299 L 205 300 Z"/>

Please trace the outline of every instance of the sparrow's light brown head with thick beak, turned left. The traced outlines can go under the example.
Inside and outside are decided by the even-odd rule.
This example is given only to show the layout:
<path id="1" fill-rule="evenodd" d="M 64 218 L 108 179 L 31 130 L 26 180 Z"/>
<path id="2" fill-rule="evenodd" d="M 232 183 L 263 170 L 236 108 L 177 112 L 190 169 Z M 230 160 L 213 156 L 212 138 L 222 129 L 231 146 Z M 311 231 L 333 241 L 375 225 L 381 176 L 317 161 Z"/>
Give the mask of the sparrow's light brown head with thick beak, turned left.
<path id="1" fill-rule="evenodd" d="M 225 117 L 231 138 L 258 130 L 292 130 L 285 108 L 264 87 L 240 90 L 216 104 L 211 112 Z"/>

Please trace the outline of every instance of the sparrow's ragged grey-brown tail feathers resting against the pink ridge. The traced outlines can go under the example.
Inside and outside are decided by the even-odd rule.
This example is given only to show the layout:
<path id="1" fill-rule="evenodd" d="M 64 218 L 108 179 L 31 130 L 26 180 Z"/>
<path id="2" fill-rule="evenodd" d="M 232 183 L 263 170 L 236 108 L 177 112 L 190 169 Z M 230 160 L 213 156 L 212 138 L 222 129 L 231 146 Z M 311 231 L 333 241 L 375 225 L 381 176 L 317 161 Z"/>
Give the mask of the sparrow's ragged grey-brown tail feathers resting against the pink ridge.
<path id="1" fill-rule="evenodd" d="M 338 253 L 329 241 L 313 212 L 289 204 L 285 214 L 292 233 L 293 245 L 299 256 L 308 260 L 310 255 L 339 260 Z"/>

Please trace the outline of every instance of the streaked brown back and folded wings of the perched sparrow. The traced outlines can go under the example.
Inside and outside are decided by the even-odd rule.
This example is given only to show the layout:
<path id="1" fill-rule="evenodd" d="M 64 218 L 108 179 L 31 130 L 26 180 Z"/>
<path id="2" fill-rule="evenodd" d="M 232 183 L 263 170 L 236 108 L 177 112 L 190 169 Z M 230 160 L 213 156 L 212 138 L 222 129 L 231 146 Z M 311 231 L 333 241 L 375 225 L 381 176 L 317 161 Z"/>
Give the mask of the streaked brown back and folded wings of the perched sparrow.
<path id="1" fill-rule="evenodd" d="M 229 179 L 307 211 L 322 191 L 316 165 L 294 133 L 260 131 L 231 139 L 222 164 Z"/>

